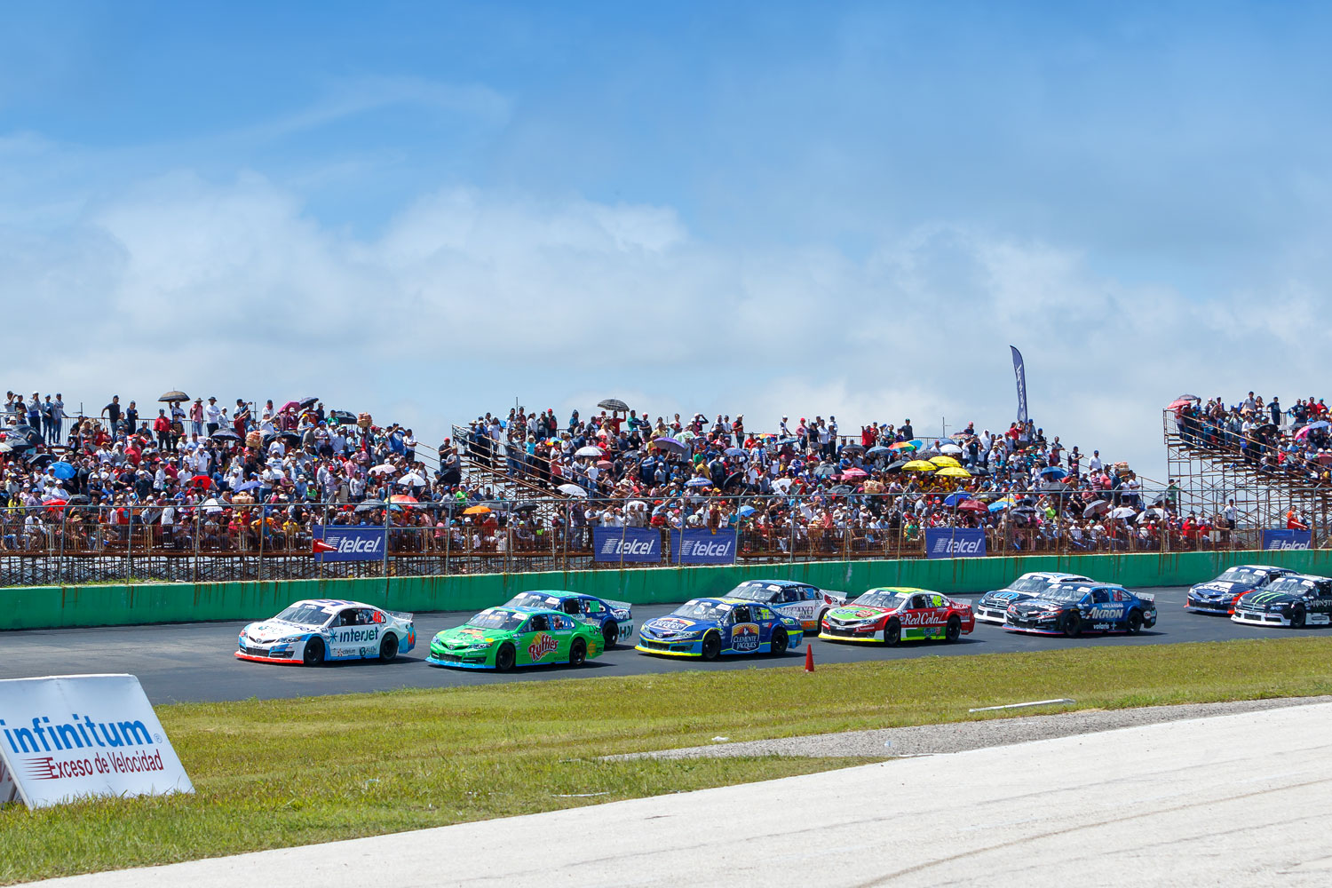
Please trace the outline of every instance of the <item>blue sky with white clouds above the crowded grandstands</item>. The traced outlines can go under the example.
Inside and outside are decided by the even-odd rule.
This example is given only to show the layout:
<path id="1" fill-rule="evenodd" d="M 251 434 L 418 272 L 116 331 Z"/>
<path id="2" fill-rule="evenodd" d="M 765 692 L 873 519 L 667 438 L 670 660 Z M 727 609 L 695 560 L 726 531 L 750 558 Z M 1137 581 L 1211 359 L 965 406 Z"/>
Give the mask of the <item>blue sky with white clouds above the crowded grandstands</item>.
<path id="1" fill-rule="evenodd" d="M 5 4 L 7 387 L 936 433 L 1014 343 L 1163 477 L 1325 393 L 1332 8 L 1071 5 Z"/>

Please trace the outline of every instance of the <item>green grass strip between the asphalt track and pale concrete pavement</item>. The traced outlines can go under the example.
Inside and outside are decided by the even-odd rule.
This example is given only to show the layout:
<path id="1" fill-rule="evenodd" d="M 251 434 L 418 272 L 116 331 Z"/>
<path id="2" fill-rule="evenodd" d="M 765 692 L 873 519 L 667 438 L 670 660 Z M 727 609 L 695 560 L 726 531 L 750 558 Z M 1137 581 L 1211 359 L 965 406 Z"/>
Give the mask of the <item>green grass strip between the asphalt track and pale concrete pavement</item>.
<path id="1" fill-rule="evenodd" d="M 368 667 L 373 668 L 373 667 Z M 1332 694 L 1332 639 L 926 656 L 159 707 L 193 796 L 0 812 L 0 883 L 436 827 L 856 764 L 601 762 L 826 731 L 1079 708 Z M 1031 711 L 1020 712 L 1030 715 Z M 987 718 L 996 718 L 990 715 Z M 590 797 L 561 797 L 605 793 Z"/>

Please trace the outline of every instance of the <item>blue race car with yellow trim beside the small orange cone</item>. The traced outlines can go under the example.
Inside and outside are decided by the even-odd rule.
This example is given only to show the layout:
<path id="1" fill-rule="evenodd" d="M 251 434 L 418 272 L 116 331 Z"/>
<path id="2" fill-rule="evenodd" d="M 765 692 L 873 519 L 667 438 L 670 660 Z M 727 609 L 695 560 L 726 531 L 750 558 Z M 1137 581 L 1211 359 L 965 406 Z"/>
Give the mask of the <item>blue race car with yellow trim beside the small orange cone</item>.
<path id="1" fill-rule="evenodd" d="M 766 604 L 725 598 L 695 598 L 669 616 L 643 623 L 634 650 L 666 656 L 785 654 L 805 640 L 801 620 Z"/>

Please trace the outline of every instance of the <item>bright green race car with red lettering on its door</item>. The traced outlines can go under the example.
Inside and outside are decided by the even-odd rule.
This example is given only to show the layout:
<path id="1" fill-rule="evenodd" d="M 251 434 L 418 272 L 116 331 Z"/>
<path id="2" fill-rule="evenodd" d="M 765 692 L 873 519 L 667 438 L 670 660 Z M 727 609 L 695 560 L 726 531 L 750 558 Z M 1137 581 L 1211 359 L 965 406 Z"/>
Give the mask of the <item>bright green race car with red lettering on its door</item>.
<path id="1" fill-rule="evenodd" d="M 430 642 L 432 666 L 507 672 L 515 666 L 579 666 L 605 650 L 601 630 L 545 607 L 488 607 Z"/>

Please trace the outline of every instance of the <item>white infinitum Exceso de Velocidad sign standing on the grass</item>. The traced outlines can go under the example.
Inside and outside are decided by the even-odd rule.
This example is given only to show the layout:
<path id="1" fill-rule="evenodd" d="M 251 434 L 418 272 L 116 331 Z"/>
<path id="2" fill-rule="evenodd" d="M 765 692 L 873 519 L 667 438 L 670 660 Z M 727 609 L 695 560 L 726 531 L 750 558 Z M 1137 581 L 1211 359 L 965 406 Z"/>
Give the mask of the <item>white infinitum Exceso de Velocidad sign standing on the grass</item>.
<path id="1" fill-rule="evenodd" d="M 193 791 L 133 675 L 0 680 L 0 801 Z"/>

